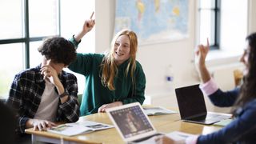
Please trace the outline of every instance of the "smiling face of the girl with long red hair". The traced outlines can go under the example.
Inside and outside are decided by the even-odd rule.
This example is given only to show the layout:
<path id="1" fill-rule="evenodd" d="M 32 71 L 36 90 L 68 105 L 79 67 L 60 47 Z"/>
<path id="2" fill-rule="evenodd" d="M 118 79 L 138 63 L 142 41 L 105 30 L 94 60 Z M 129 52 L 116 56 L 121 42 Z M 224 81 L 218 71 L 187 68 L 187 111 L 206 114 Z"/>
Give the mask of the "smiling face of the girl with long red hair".
<path id="1" fill-rule="evenodd" d="M 127 35 L 121 35 L 114 43 L 114 62 L 121 65 L 130 58 L 130 39 Z"/>

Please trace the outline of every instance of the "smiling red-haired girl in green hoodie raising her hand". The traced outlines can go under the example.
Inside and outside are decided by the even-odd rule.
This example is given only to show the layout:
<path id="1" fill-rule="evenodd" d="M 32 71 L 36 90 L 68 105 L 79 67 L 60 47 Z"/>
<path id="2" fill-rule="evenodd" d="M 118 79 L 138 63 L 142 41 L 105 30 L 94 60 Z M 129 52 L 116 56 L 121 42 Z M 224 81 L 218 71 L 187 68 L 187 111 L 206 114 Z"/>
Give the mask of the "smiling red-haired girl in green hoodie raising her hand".
<path id="1" fill-rule="evenodd" d="M 78 46 L 93 27 L 94 20 L 86 20 L 82 31 L 70 41 Z M 130 102 L 144 102 L 146 77 L 136 61 L 137 49 L 136 34 L 122 30 L 114 37 L 107 54 L 77 54 L 69 69 L 86 77 L 81 115 L 105 112 L 107 108 Z"/>

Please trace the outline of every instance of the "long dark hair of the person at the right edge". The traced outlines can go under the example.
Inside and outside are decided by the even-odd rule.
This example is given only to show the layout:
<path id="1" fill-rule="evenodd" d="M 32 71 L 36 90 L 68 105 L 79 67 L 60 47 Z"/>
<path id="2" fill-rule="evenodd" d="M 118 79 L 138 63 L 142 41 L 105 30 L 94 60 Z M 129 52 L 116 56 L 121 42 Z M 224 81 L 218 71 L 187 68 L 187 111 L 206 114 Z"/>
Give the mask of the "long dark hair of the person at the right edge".
<path id="1" fill-rule="evenodd" d="M 244 77 L 239 97 L 234 104 L 232 113 L 235 114 L 239 107 L 242 107 L 251 99 L 256 98 L 256 33 L 250 34 L 246 37 L 246 41 L 250 46 L 250 53 L 248 57 L 248 74 Z"/>

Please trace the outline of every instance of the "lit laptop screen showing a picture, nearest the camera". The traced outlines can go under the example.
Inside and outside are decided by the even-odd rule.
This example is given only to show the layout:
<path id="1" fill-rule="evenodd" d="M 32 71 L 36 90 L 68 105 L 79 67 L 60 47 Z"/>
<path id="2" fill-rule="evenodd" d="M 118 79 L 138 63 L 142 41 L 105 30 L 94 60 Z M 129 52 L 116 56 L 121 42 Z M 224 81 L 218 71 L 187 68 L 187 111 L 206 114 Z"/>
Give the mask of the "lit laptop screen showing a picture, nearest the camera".
<path id="1" fill-rule="evenodd" d="M 124 138 L 134 137 L 139 134 L 145 134 L 154 131 L 146 114 L 138 105 L 129 106 L 120 110 L 110 110 L 111 117 L 118 126 Z"/>

